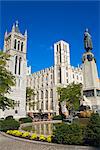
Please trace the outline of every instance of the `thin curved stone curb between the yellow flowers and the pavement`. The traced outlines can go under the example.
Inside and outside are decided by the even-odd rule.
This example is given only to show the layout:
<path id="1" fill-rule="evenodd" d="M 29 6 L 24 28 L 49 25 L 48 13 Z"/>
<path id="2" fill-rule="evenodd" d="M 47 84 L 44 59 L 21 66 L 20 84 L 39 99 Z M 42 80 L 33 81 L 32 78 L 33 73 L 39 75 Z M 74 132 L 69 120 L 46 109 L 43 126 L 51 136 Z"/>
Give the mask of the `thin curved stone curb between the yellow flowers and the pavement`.
<path id="1" fill-rule="evenodd" d="M 48 146 L 60 146 L 60 147 L 65 147 L 65 148 L 73 148 L 73 150 L 99 150 L 98 148 L 90 147 L 90 146 L 79 146 L 79 145 L 63 145 L 63 144 L 55 144 L 55 143 L 47 143 L 47 142 L 41 142 L 41 141 L 31 141 L 28 139 L 24 138 L 19 138 L 15 137 L 12 135 L 8 135 L 4 132 L 0 132 L 1 135 L 11 138 L 13 140 L 21 141 L 21 142 L 28 142 L 28 143 L 33 143 L 33 144 L 42 144 L 42 145 L 48 145 Z"/>

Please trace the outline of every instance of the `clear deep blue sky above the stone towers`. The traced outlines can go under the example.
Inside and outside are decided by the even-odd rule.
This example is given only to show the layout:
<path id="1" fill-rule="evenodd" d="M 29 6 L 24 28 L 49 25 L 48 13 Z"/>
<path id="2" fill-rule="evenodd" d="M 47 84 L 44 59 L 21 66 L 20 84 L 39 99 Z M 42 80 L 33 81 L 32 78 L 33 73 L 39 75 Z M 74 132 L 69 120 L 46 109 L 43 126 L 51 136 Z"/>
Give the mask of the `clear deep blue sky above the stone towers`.
<path id="1" fill-rule="evenodd" d="M 71 65 L 81 65 L 88 28 L 100 76 L 100 1 L 1 1 L 0 10 L 0 49 L 6 29 L 18 20 L 21 33 L 28 31 L 32 72 L 54 65 L 53 45 L 59 40 L 70 44 Z"/>

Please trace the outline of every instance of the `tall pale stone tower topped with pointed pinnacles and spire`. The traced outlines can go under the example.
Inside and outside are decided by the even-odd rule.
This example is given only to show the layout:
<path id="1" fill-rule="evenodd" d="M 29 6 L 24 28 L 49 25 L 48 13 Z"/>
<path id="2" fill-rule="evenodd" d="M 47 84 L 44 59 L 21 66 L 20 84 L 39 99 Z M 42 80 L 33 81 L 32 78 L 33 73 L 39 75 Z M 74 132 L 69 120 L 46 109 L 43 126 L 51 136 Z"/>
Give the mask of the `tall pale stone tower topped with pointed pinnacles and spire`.
<path id="1" fill-rule="evenodd" d="M 8 95 L 16 103 L 14 109 L 5 110 L 4 117 L 13 115 L 22 117 L 26 115 L 26 50 L 27 50 L 27 31 L 21 34 L 18 22 L 13 25 L 10 33 L 5 33 L 4 52 L 10 54 L 8 69 L 16 78 L 16 86 L 12 87 L 12 92 Z"/>

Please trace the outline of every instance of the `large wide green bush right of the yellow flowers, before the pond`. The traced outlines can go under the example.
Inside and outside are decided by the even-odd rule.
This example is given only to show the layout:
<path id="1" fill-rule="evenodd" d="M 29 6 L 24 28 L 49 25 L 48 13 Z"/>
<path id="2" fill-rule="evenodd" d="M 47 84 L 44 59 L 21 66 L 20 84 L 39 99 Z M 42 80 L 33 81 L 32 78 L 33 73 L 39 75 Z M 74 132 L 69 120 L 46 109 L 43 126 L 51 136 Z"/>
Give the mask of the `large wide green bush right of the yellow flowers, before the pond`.
<path id="1" fill-rule="evenodd" d="M 53 142 L 59 144 L 83 144 L 82 128 L 78 124 L 59 124 L 55 126 Z"/>

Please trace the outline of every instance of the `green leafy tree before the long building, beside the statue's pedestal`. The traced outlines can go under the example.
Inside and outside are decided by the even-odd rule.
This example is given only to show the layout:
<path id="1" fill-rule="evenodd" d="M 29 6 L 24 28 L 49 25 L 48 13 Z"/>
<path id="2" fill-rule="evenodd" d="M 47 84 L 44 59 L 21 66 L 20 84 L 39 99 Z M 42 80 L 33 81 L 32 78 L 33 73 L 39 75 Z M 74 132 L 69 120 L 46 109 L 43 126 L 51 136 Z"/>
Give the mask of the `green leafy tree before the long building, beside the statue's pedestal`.
<path id="1" fill-rule="evenodd" d="M 58 87 L 59 102 L 66 101 L 68 110 L 77 110 L 80 105 L 82 84 L 71 83 L 67 87 Z"/>

